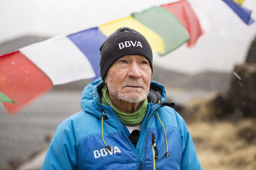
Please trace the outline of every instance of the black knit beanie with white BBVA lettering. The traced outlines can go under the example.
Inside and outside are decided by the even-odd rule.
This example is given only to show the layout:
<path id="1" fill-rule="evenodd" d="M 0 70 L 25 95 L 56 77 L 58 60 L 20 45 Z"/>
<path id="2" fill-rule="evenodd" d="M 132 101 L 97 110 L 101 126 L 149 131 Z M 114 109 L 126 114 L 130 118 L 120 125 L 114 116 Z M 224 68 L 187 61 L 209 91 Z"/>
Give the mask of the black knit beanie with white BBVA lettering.
<path id="1" fill-rule="evenodd" d="M 109 35 L 100 47 L 100 76 L 104 81 L 108 69 L 120 57 L 137 54 L 148 59 L 153 73 L 153 54 L 147 39 L 138 31 L 123 27 Z"/>

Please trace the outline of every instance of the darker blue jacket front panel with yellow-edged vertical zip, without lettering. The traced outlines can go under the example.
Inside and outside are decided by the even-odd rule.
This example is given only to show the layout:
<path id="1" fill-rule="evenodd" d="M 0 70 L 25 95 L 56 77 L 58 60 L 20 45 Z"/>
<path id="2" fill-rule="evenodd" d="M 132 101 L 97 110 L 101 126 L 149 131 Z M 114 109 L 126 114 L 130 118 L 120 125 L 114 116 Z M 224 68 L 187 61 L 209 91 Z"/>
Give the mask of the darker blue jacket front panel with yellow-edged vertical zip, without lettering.
<path id="1" fill-rule="evenodd" d="M 179 131 L 176 128 L 165 127 L 169 157 L 166 157 L 166 141 L 163 129 L 148 131 L 145 149 L 145 168 L 156 170 L 180 170 L 182 158 L 182 145 Z M 152 135 L 154 134 L 154 135 Z M 155 137 L 155 143 L 152 141 Z M 155 146 L 154 146 L 155 145 Z"/>

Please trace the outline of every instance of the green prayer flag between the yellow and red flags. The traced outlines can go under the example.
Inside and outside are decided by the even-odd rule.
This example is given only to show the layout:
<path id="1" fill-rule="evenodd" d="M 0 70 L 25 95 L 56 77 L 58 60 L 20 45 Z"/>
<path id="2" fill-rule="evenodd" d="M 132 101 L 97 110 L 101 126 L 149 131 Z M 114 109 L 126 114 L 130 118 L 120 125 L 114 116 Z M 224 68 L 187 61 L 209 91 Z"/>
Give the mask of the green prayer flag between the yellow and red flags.
<path id="1" fill-rule="evenodd" d="M 165 43 L 165 55 L 190 39 L 189 33 L 179 19 L 162 7 L 151 7 L 132 16 L 146 27 L 155 31 Z"/>

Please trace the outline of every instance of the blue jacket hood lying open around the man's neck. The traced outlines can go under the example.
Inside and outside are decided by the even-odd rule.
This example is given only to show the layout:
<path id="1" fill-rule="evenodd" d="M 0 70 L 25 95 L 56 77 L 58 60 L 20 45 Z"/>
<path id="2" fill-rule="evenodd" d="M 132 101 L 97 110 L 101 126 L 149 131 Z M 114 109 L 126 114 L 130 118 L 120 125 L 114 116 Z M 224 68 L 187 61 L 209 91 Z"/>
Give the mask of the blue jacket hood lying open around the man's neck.
<path id="1" fill-rule="evenodd" d="M 82 91 L 82 96 L 81 96 L 81 108 L 85 110 L 86 112 L 89 112 L 90 114 L 93 114 L 96 117 L 101 118 L 102 112 L 101 110 L 101 100 L 100 100 L 100 95 L 99 92 L 101 93 L 100 89 L 103 85 L 103 80 L 101 78 L 96 79 L 92 83 L 89 83 L 86 85 Z M 156 104 L 159 102 L 161 99 L 161 104 L 163 105 L 173 105 L 171 107 L 174 107 L 174 103 L 171 101 L 166 102 L 166 91 L 163 85 L 151 81 L 150 84 L 150 90 L 149 90 L 149 95 L 148 95 L 148 102 L 152 104 Z M 165 102 L 164 102 L 165 101 Z M 110 107 L 111 106 L 106 106 Z"/>

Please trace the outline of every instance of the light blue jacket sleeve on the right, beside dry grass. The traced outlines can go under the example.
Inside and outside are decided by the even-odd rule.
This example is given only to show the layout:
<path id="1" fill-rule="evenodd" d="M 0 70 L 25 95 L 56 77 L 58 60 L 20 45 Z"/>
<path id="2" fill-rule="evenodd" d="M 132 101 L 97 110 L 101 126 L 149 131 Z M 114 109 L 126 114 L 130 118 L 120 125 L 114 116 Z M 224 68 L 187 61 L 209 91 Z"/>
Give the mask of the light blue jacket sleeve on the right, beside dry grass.
<path id="1" fill-rule="evenodd" d="M 202 170 L 188 127 L 176 111 L 175 114 L 182 142 L 181 170 Z"/>

